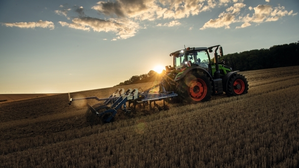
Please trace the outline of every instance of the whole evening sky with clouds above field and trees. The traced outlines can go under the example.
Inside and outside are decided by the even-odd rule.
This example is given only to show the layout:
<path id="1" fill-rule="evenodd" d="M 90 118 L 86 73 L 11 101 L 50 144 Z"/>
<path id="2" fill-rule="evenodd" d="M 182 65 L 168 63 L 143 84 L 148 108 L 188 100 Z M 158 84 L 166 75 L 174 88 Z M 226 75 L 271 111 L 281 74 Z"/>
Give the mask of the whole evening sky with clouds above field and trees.
<path id="1" fill-rule="evenodd" d="M 184 46 L 295 43 L 298 12 L 297 0 L 0 1 L 0 94 L 113 87 Z"/>

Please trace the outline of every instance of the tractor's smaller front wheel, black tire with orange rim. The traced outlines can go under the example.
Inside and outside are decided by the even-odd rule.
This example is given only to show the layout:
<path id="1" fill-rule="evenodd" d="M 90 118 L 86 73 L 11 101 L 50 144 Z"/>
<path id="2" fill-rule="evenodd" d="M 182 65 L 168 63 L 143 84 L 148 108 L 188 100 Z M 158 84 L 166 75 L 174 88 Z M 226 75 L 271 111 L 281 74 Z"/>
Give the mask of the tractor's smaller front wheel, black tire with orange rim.
<path id="1" fill-rule="evenodd" d="M 245 76 L 234 73 L 230 76 L 227 83 L 226 95 L 238 96 L 248 93 L 248 81 Z"/>

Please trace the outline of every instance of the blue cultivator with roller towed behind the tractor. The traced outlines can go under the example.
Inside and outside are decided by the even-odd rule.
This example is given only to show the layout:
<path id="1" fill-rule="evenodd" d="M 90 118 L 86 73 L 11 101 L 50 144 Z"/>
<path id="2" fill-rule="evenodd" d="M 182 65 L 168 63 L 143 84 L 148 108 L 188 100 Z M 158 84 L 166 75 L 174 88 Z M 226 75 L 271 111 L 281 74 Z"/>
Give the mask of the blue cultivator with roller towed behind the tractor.
<path id="1" fill-rule="evenodd" d="M 153 90 L 159 87 L 159 91 L 154 92 Z M 72 99 L 69 93 L 70 103 L 78 100 L 87 100 L 95 99 L 97 101 L 104 101 L 103 103 L 97 103 L 93 106 L 87 104 L 86 110 L 86 119 L 89 122 L 95 122 L 98 119 L 101 119 L 102 122 L 110 122 L 117 113 L 117 110 L 121 110 L 125 115 L 131 116 L 132 113 L 136 110 L 136 105 L 143 105 L 145 108 L 146 105 L 149 105 L 149 108 L 152 109 L 152 103 L 154 106 L 157 106 L 156 101 L 163 101 L 163 106 L 165 107 L 165 99 L 172 99 L 178 94 L 174 92 L 167 92 L 163 87 L 163 83 L 140 92 L 138 89 L 128 89 L 124 92 L 124 89 L 117 89 L 112 95 L 108 98 L 99 99 L 97 97 L 86 97 Z"/>

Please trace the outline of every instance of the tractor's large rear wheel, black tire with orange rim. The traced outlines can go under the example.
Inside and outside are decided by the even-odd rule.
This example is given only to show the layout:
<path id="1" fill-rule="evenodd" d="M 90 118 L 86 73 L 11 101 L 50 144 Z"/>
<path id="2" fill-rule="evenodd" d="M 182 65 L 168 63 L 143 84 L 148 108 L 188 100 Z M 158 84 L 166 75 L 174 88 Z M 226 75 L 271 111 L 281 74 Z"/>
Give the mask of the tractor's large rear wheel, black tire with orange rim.
<path id="1" fill-rule="evenodd" d="M 191 71 L 179 81 L 177 93 L 184 104 L 209 101 L 212 95 L 212 82 L 203 72 Z"/>

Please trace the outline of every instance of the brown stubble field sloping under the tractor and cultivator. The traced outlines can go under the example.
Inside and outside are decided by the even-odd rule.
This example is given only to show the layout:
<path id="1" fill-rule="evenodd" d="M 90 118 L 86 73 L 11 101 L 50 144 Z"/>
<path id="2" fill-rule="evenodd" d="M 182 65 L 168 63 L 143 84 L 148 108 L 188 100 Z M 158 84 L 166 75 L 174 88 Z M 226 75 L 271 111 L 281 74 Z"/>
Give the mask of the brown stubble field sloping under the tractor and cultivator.
<path id="1" fill-rule="evenodd" d="M 299 67 L 240 72 L 248 94 L 90 126 L 68 94 L 0 102 L 0 167 L 298 167 Z M 124 86 L 147 89 L 154 83 Z M 107 97 L 118 87 L 72 93 Z"/>

